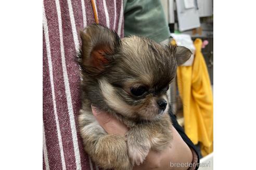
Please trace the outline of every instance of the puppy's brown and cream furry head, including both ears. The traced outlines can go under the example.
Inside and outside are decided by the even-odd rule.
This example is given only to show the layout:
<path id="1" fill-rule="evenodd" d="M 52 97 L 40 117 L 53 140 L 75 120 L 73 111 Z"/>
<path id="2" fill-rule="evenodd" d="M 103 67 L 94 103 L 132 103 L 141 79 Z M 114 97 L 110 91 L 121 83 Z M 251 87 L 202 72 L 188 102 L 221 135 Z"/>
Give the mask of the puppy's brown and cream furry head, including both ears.
<path id="1" fill-rule="evenodd" d="M 81 32 L 82 97 L 125 117 L 155 120 L 168 111 L 167 91 L 185 47 L 163 46 L 136 36 L 120 39 L 100 25 Z"/>

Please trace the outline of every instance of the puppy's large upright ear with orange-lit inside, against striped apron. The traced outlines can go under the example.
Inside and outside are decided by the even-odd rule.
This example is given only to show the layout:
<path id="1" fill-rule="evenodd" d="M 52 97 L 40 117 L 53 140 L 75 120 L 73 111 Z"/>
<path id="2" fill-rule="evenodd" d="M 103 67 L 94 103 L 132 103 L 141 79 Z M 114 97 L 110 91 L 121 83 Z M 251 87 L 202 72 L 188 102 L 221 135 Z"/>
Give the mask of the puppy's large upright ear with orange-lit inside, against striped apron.
<path id="1" fill-rule="evenodd" d="M 113 61 L 112 55 L 120 47 L 120 38 L 114 31 L 97 24 L 80 31 L 82 39 L 81 65 L 91 74 L 103 72 Z"/>

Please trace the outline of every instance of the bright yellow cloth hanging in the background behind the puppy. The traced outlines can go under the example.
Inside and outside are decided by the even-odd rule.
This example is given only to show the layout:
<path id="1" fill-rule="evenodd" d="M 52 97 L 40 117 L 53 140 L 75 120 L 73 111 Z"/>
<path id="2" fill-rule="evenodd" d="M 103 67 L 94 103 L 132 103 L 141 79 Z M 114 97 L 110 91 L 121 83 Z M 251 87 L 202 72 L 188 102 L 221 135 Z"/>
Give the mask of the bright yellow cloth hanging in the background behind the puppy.
<path id="1" fill-rule="evenodd" d="M 185 133 L 194 144 L 200 142 L 201 153 L 205 156 L 213 151 L 213 97 L 201 53 L 202 40 L 197 38 L 194 45 L 194 63 L 192 66 L 178 66 L 177 84 L 183 101 Z"/>

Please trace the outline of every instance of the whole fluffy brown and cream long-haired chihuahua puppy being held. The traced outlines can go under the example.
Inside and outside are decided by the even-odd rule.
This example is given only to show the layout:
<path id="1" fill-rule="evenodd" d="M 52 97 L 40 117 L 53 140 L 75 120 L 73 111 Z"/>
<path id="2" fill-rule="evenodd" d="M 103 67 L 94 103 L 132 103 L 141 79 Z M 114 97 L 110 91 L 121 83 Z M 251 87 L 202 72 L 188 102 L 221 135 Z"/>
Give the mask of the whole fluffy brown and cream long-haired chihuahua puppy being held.
<path id="1" fill-rule="evenodd" d="M 191 52 L 143 37 L 120 39 L 116 32 L 96 24 L 80 35 L 79 126 L 84 149 L 103 169 L 130 170 L 145 160 L 150 149 L 161 151 L 170 145 L 167 91 L 177 65 L 187 61 Z M 91 105 L 129 127 L 125 137 L 107 134 Z"/>

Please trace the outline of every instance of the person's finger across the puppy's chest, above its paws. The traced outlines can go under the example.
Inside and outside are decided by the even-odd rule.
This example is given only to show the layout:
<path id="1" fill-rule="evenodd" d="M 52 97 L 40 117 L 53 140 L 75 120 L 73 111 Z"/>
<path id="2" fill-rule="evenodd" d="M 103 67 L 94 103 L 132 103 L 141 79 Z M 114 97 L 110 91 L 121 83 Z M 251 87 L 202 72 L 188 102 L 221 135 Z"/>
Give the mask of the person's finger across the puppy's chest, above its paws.
<path id="1" fill-rule="evenodd" d="M 97 109 L 92 106 L 92 112 L 98 123 L 108 134 L 118 134 L 125 136 L 125 133 L 129 130 L 126 125 L 118 121 L 108 112 Z"/>

